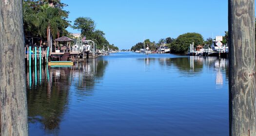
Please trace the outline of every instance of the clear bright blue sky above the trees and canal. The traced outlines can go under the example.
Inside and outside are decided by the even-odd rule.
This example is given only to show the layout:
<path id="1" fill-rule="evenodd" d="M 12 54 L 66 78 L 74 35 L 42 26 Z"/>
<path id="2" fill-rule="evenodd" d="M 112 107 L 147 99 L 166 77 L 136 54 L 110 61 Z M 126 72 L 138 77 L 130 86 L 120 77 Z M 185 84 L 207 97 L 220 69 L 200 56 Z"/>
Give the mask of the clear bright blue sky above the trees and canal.
<path id="1" fill-rule="evenodd" d="M 111 44 L 130 49 L 187 32 L 206 39 L 228 30 L 228 0 L 61 0 L 69 20 L 91 17 Z M 72 23 L 73 24 L 73 23 Z M 71 33 L 79 31 L 67 29 Z"/>

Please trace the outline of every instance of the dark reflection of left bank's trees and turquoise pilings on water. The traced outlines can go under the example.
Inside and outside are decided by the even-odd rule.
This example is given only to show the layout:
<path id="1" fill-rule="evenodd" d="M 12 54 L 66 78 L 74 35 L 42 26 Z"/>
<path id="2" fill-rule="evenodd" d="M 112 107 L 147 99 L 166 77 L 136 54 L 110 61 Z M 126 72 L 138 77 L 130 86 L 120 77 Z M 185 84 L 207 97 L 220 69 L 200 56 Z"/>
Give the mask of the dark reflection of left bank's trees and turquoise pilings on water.
<path id="1" fill-rule="evenodd" d="M 103 77 L 107 61 L 97 59 L 72 67 L 38 66 L 27 69 L 27 104 L 29 124 L 39 124 L 45 133 L 57 134 L 69 104 L 70 87 L 79 95 L 92 95 L 95 82 Z M 30 127 L 30 129 L 33 129 Z"/>

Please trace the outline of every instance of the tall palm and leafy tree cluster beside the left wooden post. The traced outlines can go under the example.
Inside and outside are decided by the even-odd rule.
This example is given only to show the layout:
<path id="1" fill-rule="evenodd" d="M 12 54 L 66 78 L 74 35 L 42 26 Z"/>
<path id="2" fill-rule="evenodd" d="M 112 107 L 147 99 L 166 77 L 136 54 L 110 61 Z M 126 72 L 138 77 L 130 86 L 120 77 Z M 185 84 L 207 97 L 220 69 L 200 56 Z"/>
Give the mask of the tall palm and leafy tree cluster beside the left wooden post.
<path id="1" fill-rule="evenodd" d="M 66 4 L 59 0 L 23 0 L 23 27 L 26 36 L 47 39 L 68 34 L 67 17 L 69 12 L 63 10 Z"/>

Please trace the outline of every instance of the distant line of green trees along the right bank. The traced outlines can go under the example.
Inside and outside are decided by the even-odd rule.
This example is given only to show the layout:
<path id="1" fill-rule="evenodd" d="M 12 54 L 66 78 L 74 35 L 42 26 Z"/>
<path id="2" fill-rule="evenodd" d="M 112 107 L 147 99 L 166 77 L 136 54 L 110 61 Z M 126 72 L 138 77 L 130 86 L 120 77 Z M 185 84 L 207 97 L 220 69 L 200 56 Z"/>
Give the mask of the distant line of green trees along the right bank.
<path id="1" fill-rule="evenodd" d="M 203 36 L 198 33 L 186 33 L 179 35 L 176 39 L 167 37 L 165 39 L 160 39 L 158 43 L 150 42 L 149 39 L 145 40 L 145 47 L 149 47 L 151 51 L 156 51 L 160 46 L 167 46 L 171 49 L 172 53 L 185 53 L 189 50 L 190 44 L 194 42 L 195 47 L 198 45 L 205 46 L 212 45 L 214 39 L 207 38 L 203 39 Z M 225 36 L 223 36 L 223 44 L 226 44 L 228 41 L 228 32 L 225 32 Z M 144 43 L 139 42 L 135 46 L 131 48 L 132 51 L 138 51 L 140 49 L 144 49 Z"/>

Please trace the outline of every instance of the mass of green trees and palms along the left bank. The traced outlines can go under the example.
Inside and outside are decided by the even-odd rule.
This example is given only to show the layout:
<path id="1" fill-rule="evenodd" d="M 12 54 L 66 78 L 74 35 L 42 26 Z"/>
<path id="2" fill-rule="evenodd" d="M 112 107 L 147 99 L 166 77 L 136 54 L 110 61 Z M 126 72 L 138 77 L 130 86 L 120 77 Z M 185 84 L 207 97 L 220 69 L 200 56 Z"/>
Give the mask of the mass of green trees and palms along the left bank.
<path id="1" fill-rule="evenodd" d="M 72 25 L 68 20 L 69 11 L 63 9 L 65 6 L 68 5 L 60 0 L 22 0 L 26 45 L 49 45 L 53 39 L 61 36 L 76 39 L 66 30 L 71 27 L 79 30 L 81 37 L 93 40 L 98 50 L 103 49 L 103 46 L 118 50 L 118 47 L 108 42 L 103 31 L 96 29 L 96 24 L 90 17 L 78 17 Z"/>

